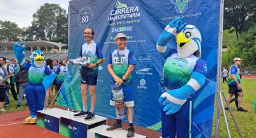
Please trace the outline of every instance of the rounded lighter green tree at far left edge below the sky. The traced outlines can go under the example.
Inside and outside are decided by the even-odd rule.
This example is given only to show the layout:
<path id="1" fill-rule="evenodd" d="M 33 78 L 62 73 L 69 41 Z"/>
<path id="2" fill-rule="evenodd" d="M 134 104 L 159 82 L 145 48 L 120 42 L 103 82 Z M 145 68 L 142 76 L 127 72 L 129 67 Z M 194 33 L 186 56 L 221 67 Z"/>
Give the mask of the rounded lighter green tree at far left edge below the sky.
<path id="1" fill-rule="evenodd" d="M 22 29 L 14 22 L 0 22 L 0 40 L 19 41 Z"/>

